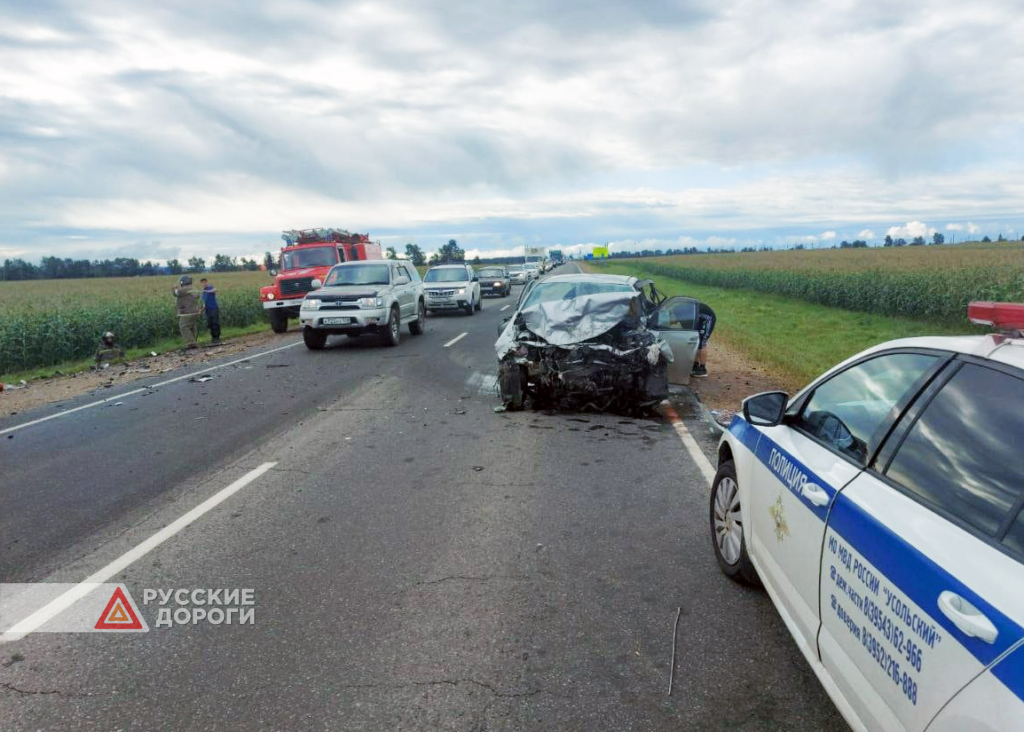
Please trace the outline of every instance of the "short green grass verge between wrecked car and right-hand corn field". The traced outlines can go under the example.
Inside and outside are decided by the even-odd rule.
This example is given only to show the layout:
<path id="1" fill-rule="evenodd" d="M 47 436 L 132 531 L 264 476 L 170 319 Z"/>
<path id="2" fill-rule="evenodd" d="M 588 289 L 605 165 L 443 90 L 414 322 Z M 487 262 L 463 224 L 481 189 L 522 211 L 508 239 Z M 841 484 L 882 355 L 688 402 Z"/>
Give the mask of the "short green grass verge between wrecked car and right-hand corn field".
<path id="1" fill-rule="evenodd" d="M 773 371 L 788 388 L 803 386 L 844 358 L 884 341 L 986 332 L 971 326 L 966 317 L 964 325 L 957 327 L 872 315 L 750 290 L 694 285 L 653 275 L 637 264 L 586 266 L 594 272 L 649 277 L 666 295 L 687 295 L 708 303 L 718 316 L 709 351 L 709 370 L 714 369 L 715 341 L 721 339 Z"/>

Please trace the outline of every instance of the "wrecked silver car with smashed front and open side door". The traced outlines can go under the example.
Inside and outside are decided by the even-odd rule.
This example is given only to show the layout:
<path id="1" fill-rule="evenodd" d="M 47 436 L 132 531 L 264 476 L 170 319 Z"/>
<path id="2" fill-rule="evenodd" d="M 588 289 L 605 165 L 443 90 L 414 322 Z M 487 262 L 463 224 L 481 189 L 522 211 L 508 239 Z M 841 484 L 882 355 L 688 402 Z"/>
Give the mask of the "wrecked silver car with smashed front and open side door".
<path id="1" fill-rule="evenodd" d="M 547 277 L 495 343 L 502 401 L 509 410 L 646 413 L 670 382 L 689 381 L 697 305 L 636 277 Z"/>

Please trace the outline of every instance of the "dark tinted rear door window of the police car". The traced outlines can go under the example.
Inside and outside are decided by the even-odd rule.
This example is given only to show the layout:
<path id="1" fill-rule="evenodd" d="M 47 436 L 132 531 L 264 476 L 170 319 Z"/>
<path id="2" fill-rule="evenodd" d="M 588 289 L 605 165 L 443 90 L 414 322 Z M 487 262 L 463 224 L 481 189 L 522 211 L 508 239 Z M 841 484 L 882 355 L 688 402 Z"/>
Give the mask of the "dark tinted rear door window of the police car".
<path id="1" fill-rule="evenodd" d="M 1024 490 L 1022 403 L 1024 381 L 966 364 L 922 414 L 886 475 L 996 535 Z"/>

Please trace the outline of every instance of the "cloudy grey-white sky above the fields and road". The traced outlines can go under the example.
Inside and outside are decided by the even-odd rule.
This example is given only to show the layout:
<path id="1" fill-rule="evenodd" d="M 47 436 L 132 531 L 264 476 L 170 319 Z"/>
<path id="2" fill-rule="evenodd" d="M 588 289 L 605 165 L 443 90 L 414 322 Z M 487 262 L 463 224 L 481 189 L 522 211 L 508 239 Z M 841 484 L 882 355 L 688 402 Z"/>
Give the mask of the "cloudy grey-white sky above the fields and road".
<path id="1" fill-rule="evenodd" d="M 4 0 L 0 258 L 1019 239 L 1022 39 L 1020 0 Z"/>

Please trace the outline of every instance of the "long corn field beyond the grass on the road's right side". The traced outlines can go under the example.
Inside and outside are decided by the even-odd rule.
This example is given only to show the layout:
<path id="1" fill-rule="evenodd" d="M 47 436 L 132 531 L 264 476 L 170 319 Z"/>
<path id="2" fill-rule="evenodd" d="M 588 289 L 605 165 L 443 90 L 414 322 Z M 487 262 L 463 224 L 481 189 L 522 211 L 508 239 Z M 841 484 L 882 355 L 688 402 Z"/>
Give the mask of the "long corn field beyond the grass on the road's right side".
<path id="1" fill-rule="evenodd" d="M 947 324 L 965 322 L 971 300 L 1024 302 L 1024 246 L 1013 243 L 697 254 L 633 261 L 647 274 L 695 285 Z"/>

